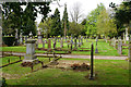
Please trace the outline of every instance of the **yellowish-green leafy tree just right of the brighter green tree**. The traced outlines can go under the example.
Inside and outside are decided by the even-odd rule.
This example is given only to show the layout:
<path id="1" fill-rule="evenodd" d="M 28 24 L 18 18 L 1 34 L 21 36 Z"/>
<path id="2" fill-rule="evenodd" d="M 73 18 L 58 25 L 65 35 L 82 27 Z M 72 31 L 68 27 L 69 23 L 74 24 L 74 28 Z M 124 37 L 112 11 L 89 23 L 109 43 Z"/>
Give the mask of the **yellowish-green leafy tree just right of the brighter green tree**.
<path id="1" fill-rule="evenodd" d="M 109 17 L 109 14 L 105 8 L 97 17 L 96 28 L 99 35 L 110 37 L 114 37 L 115 33 L 117 32 L 114 18 Z"/>

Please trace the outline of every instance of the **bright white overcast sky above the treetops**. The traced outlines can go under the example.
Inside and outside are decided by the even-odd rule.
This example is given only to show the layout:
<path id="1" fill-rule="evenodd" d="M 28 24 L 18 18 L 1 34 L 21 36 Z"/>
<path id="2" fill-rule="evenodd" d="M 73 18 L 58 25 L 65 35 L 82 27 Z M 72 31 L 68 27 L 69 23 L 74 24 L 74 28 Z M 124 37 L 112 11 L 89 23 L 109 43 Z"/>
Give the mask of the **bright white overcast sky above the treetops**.
<path id="1" fill-rule="evenodd" d="M 82 10 L 82 14 L 83 14 L 83 18 L 85 18 L 87 16 L 87 14 L 97 8 L 97 4 L 99 4 L 100 2 L 104 3 L 104 5 L 106 7 L 106 9 L 109 9 L 109 3 L 110 2 L 114 2 L 116 4 L 120 4 L 122 0 L 60 0 L 59 1 L 59 4 L 62 5 L 62 7 L 59 7 L 57 4 L 56 1 L 53 1 L 52 3 L 50 3 L 50 9 L 51 9 L 51 12 L 49 13 L 50 14 L 53 14 L 55 13 L 55 10 L 56 8 L 59 9 L 60 11 L 60 17 L 62 18 L 62 15 L 63 15 L 63 11 L 64 11 L 64 3 L 67 3 L 67 9 L 68 9 L 68 14 L 69 14 L 69 20 L 71 20 L 71 16 L 70 16 L 70 11 L 72 10 L 74 3 L 80 3 L 81 4 L 81 10 Z M 37 23 L 40 22 L 40 15 L 38 15 L 38 18 L 36 20 Z"/>

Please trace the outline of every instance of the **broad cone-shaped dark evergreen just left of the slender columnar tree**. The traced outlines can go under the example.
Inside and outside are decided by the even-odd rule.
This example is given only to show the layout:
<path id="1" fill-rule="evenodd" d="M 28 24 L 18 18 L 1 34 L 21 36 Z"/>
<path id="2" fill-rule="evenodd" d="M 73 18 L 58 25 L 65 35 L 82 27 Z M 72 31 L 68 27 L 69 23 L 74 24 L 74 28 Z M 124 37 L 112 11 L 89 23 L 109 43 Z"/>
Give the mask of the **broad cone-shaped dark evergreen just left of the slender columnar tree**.
<path id="1" fill-rule="evenodd" d="M 62 29 L 61 29 L 61 21 L 60 21 L 60 12 L 58 8 L 56 9 L 51 22 L 51 36 L 62 36 Z"/>

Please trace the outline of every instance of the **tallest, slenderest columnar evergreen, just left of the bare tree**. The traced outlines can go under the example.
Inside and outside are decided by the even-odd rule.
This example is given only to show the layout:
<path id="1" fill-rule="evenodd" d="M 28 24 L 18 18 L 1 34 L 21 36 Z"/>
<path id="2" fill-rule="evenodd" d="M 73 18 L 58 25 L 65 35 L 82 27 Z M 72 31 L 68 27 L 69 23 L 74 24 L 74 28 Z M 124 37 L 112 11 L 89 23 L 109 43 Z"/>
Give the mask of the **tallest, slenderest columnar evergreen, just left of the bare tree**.
<path id="1" fill-rule="evenodd" d="M 67 12 L 67 4 L 64 4 L 64 11 L 63 11 L 63 17 L 62 17 L 62 26 L 61 28 L 63 29 L 63 34 L 64 34 L 64 37 L 68 35 L 69 33 L 69 20 L 68 20 L 68 12 Z M 67 32 L 68 30 L 68 32 Z M 63 35 L 62 34 L 62 35 Z"/>

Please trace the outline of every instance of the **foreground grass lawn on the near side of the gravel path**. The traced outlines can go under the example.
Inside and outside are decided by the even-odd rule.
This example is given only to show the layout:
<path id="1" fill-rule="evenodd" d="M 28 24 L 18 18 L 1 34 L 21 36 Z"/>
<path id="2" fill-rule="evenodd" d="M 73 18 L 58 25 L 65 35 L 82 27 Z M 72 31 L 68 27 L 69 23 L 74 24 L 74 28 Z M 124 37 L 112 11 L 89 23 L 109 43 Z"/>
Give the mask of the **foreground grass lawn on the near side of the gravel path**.
<path id="1" fill-rule="evenodd" d="M 2 58 L 3 59 L 3 58 Z M 8 59 L 8 58 L 5 58 Z M 47 64 L 48 58 L 38 58 Z M 2 60 L 3 62 L 5 60 Z M 60 59 L 66 62 L 90 62 L 88 59 Z M 85 76 L 90 71 L 72 71 L 55 67 L 40 69 L 31 73 L 31 67 L 22 67 L 21 62 L 2 69 L 3 76 L 9 85 L 129 85 L 129 63 L 124 60 L 95 60 L 95 80 Z M 1 70 L 1 69 L 0 69 Z"/>

